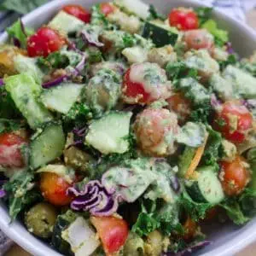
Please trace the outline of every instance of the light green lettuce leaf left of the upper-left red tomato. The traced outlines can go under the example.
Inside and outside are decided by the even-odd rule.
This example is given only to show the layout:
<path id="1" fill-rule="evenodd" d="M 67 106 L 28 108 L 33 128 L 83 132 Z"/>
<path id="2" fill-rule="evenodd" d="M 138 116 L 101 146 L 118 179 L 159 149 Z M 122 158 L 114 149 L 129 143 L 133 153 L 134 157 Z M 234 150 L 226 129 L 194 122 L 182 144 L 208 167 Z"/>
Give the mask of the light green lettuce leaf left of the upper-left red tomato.
<path id="1" fill-rule="evenodd" d="M 27 37 L 32 35 L 33 31 L 31 29 L 22 28 L 21 20 L 17 20 L 12 26 L 9 26 L 6 31 L 8 32 L 9 38 L 18 39 L 20 46 L 26 49 Z M 25 30 L 25 31 L 24 31 Z"/>

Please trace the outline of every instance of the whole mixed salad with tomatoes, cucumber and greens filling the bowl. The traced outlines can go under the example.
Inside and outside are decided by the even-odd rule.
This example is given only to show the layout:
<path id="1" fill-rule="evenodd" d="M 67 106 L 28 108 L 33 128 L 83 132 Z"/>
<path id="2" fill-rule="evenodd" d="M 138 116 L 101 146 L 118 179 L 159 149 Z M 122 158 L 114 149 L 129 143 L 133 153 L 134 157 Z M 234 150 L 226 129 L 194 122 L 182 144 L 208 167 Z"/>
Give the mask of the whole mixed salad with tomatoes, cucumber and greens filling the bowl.
<path id="1" fill-rule="evenodd" d="M 256 214 L 256 55 L 210 8 L 64 6 L 0 46 L 0 197 L 64 255 L 188 255 Z"/>

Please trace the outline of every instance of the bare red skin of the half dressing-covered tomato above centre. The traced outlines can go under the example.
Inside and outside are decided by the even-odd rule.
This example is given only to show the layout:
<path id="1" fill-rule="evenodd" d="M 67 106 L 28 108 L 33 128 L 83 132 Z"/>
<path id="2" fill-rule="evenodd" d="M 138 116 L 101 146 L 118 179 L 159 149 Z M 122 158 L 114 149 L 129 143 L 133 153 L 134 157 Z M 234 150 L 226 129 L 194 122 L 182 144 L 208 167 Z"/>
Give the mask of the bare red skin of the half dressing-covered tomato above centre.
<path id="1" fill-rule="evenodd" d="M 138 98 L 139 103 L 147 103 L 150 97 L 149 93 L 144 90 L 143 84 L 131 82 L 131 68 L 125 73 L 123 82 L 123 93 L 127 97 Z"/>

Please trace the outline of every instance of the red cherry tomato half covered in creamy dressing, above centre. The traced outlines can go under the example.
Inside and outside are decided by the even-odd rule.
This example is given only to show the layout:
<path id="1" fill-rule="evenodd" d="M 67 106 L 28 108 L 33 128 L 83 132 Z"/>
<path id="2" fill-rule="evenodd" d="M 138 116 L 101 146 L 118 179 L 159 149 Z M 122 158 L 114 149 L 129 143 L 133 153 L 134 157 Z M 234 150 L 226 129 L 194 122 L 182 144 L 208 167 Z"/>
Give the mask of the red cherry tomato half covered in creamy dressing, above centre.
<path id="1" fill-rule="evenodd" d="M 166 72 L 155 63 L 133 64 L 125 73 L 123 100 L 129 104 L 150 104 L 171 96 L 172 84 Z"/>

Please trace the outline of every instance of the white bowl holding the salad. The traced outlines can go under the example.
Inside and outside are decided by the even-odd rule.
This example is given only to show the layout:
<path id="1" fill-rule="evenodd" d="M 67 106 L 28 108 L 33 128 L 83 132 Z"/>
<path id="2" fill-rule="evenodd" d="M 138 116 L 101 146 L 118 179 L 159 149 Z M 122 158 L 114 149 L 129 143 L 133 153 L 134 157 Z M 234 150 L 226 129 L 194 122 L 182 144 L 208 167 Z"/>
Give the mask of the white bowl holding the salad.
<path id="1" fill-rule="evenodd" d="M 198 7 L 204 6 L 201 2 L 191 0 L 144 0 L 146 3 L 153 3 L 157 9 L 166 13 L 173 7 Z M 94 0 L 55 0 L 45 4 L 31 14 L 26 15 L 22 20 L 26 26 L 38 27 L 46 23 L 61 6 L 67 3 L 77 3 L 90 7 L 94 3 L 103 1 Z M 232 19 L 224 13 L 214 11 L 214 18 L 218 20 L 219 26 L 230 32 L 230 41 L 234 49 L 241 56 L 248 56 L 256 49 L 256 35 L 254 31 L 243 24 L 240 20 Z M 0 37 L 0 43 L 7 40 L 7 34 L 3 33 Z M 11 239 L 24 247 L 28 252 L 36 256 L 60 256 L 48 244 L 32 236 L 19 221 L 9 224 L 9 214 L 3 204 L 0 204 L 0 229 Z M 249 243 L 256 240 L 256 218 L 242 227 L 236 227 L 233 224 L 215 224 L 208 227 L 211 230 L 209 239 L 213 241 L 212 245 L 201 250 L 198 255 L 204 256 L 230 256 L 246 247 Z"/>

